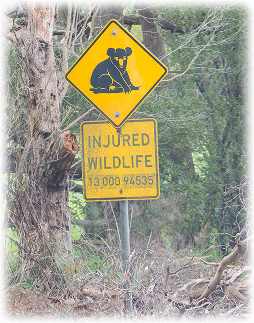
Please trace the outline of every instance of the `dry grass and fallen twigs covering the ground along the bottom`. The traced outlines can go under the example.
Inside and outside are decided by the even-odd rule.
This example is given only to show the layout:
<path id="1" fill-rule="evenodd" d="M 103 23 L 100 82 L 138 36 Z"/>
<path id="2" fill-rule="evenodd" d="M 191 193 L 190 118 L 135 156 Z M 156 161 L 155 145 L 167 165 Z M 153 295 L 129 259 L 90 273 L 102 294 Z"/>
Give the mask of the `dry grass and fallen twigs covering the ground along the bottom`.
<path id="1" fill-rule="evenodd" d="M 102 247 L 100 247 L 102 248 Z M 126 311 L 126 291 L 130 284 L 132 318 L 242 319 L 250 316 L 250 268 L 238 259 L 228 266 L 217 289 L 203 301 L 198 297 L 216 272 L 218 264 L 193 257 L 192 252 L 177 254 L 150 243 L 134 246 L 130 271 L 121 272 L 119 252 L 109 255 L 90 270 L 70 274 L 71 288 L 49 294 L 40 288 L 10 287 L 6 291 L 9 318 L 122 318 Z M 136 251 L 135 251 L 136 250 Z"/>

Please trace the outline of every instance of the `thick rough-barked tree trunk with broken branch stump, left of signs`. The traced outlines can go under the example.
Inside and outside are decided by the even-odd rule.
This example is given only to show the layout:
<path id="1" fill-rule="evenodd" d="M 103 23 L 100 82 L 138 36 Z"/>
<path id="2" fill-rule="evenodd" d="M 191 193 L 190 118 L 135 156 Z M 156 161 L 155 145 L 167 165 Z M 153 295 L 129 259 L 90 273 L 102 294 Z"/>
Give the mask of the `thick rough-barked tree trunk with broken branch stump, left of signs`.
<path id="1" fill-rule="evenodd" d="M 60 130 L 63 76 L 57 75 L 52 46 L 55 17 L 54 6 L 37 3 L 28 7 L 27 28 L 10 19 L 5 25 L 21 54 L 28 90 L 28 131 L 13 189 L 12 222 L 26 268 L 32 261 L 44 272 L 58 252 L 71 249 L 68 172 L 78 151 L 75 135 Z"/>

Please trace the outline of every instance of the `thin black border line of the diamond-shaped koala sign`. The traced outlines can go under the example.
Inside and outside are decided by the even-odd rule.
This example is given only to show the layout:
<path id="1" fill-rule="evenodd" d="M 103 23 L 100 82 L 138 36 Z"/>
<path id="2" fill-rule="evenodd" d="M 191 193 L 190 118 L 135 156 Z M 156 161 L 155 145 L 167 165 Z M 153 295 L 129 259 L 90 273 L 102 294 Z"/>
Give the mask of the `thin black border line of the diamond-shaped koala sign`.
<path id="1" fill-rule="evenodd" d="M 165 72 L 163 75 L 160 76 L 160 78 L 157 80 L 157 82 L 154 83 L 154 85 L 148 90 L 148 92 L 142 97 L 142 99 L 135 105 L 135 107 L 129 112 L 129 114 L 122 120 L 122 122 L 117 125 L 113 122 L 93 101 L 91 101 L 80 89 L 78 89 L 70 79 L 68 79 L 68 74 L 74 69 L 74 67 L 80 62 L 80 60 L 84 57 L 84 55 L 90 50 L 91 47 L 95 45 L 95 43 L 98 41 L 98 39 L 103 35 L 103 33 L 110 27 L 111 24 L 116 24 L 119 28 L 123 30 L 125 34 L 127 34 L 138 46 L 140 46 L 149 56 L 151 56 L 164 70 Z M 86 50 L 83 52 L 83 54 L 76 60 L 76 62 L 73 64 L 73 66 L 66 72 L 65 79 L 68 83 L 70 83 L 91 105 L 93 105 L 100 113 L 116 128 L 121 128 L 123 124 L 126 122 L 126 120 L 131 116 L 131 114 L 137 109 L 138 106 L 141 105 L 141 103 L 144 101 L 144 99 L 151 93 L 151 91 L 157 86 L 157 84 L 160 82 L 161 79 L 164 78 L 164 76 L 168 73 L 167 67 L 160 62 L 160 60 L 155 57 L 145 46 L 143 46 L 140 42 L 137 41 L 137 39 L 132 36 L 118 21 L 112 19 L 108 22 L 108 24 L 104 27 L 104 29 L 100 32 L 100 34 L 94 39 L 93 42 L 86 48 Z"/>

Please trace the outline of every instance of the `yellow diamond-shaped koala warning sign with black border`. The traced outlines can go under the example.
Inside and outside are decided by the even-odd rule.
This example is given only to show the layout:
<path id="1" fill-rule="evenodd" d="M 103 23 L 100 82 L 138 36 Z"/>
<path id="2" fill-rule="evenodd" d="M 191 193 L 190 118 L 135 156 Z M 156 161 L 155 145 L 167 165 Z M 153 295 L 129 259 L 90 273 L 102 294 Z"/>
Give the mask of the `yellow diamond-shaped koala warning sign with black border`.
<path id="1" fill-rule="evenodd" d="M 167 72 L 157 57 L 112 19 L 65 78 L 120 128 Z"/>

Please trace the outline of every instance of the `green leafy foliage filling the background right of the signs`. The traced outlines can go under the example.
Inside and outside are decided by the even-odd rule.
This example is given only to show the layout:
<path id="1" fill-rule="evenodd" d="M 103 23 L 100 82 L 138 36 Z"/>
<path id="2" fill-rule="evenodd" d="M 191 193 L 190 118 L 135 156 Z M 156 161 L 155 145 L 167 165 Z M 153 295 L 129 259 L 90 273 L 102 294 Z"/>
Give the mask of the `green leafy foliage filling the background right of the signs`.
<path id="1" fill-rule="evenodd" d="M 175 241 L 176 248 L 193 243 L 208 220 L 207 236 L 216 236 L 213 243 L 227 245 L 230 235 L 239 230 L 237 214 L 238 223 L 245 217 L 237 189 L 225 192 L 245 176 L 246 12 L 240 7 L 184 6 L 161 11 L 158 18 L 199 31 L 165 37 L 172 80 L 163 81 L 160 92 L 155 90 L 134 115 L 158 122 L 161 197 L 175 210 L 164 207 L 160 214 L 160 203 L 154 201 L 158 208 L 154 214 L 161 232 Z M 179 73 L 184 74 L 174 78 Z M 177 207 L 170 200 L 177 200 Z M 144 210 L 151 212 L 150 207 Z"/>

